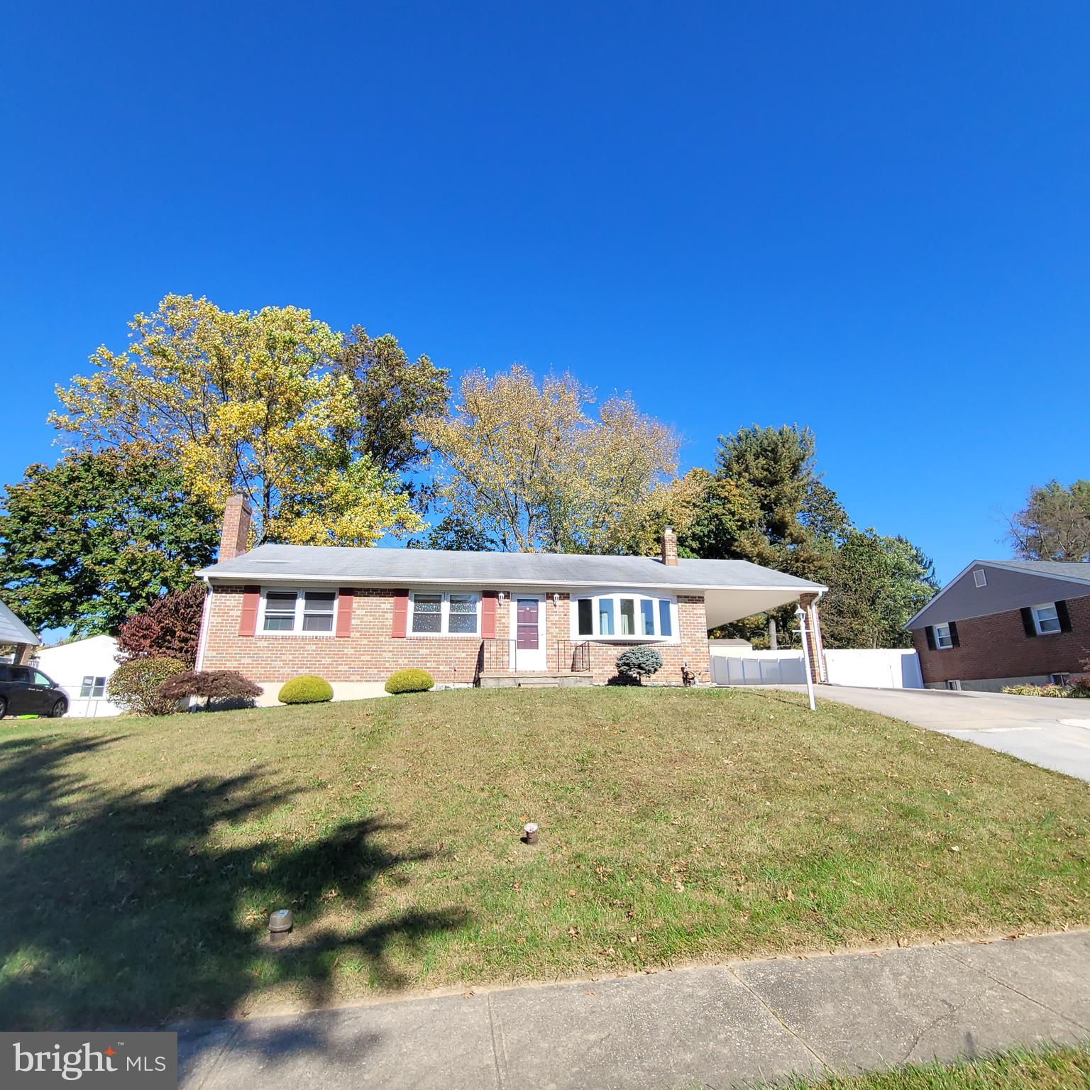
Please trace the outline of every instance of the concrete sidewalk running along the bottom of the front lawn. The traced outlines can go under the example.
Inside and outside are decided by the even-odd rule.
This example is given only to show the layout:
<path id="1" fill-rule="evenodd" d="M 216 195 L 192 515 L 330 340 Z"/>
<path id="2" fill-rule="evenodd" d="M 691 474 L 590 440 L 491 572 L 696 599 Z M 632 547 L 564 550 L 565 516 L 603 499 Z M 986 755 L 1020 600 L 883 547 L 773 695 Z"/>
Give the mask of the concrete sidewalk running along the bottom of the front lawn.
<path id="1" fill-rule="evenodd" d="M 1090 1037 L 1090 932 L 179 1027 L 185 1090 L 747 1086 Z"/>

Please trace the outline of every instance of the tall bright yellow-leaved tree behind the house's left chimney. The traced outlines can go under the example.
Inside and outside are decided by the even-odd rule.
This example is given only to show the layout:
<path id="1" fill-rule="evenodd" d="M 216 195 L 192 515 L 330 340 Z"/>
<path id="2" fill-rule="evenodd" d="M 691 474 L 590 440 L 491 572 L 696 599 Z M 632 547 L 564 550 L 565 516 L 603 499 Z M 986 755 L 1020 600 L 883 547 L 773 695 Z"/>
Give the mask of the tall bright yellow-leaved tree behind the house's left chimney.
<path id="1" fill-rule="evenodd" d="M 353 443 L 343 340 L 308 311 L 167 295 L 130 329 L 125 351 L 99 348 L 89 375 L 58 387 L 64 411 L 50 421 L 75 446 L 161 453 L 217 507 L 245 494 L 255 544 L 371 545 L 421 529 L 397 479 Z"/>

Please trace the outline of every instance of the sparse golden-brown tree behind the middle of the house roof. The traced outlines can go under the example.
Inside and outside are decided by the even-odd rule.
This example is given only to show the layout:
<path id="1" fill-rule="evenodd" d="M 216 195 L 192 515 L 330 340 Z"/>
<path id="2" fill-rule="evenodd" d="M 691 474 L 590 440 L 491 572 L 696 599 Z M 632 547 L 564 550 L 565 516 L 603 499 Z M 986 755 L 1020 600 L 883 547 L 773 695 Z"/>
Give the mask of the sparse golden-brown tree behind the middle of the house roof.
<path id="1" fill-rule="evenodd" d="M 591 415 L 593 395 L 571 375 L 538 384 L 520 366 L 467 375 L 453 412 L 420 425 L 450 517 L 502 549 L 619 553 L 643 542 L 678 437 L 628 396 Z"/>

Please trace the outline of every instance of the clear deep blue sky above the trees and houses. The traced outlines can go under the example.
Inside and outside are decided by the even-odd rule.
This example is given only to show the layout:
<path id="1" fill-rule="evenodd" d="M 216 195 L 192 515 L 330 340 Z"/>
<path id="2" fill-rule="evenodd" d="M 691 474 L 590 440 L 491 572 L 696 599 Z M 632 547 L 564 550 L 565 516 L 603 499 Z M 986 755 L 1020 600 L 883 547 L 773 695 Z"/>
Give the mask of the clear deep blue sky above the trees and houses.
<path id="1" fill-rule="evenodd" d="M 806 423 L 946 579 L 1088 474 L 1086 3 L 20 4 L 0 482 L 168 291 Z"/>

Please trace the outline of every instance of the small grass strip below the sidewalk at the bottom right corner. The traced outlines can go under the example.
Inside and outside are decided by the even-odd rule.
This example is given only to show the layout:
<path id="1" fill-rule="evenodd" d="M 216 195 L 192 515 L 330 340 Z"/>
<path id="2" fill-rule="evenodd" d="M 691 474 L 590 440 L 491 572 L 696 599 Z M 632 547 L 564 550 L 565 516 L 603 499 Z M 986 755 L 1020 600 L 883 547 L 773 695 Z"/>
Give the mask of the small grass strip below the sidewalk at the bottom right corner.
<path id="1" fill-rule="evenodd" d="M 1090 1049 L 1015 1050 L 972 1063 L 909 1064 L 887 1071 L 800 1079 L 789 1090 L 1087 1090 Z"/>

